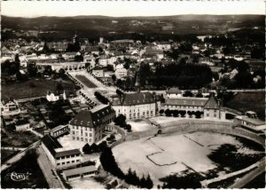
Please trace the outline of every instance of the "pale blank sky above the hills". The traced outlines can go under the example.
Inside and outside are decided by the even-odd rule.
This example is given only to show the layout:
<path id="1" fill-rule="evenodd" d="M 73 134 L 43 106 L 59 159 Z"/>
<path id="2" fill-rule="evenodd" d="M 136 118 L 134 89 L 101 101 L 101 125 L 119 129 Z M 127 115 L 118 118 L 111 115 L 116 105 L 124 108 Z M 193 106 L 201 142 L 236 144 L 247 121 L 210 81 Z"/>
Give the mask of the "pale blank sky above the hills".
<path id="1" fill-rule="evenodd" d="M 101 0 L 2 1 L 1 15 L 13 17 L 105 15 L 166 16 L 177 14 L 265 14 L 263 0 Z"/>

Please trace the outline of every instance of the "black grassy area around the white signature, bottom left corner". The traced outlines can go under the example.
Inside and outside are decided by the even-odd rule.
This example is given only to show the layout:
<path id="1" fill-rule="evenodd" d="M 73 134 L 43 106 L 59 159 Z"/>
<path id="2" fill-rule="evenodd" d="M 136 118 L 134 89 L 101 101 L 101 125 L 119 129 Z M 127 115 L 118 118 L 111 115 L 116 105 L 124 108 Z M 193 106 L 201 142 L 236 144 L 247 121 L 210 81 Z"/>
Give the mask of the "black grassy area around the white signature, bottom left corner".
<path id="1" fill-rule="evenodd" d="M 19 162 L 12 165 L 12 167 L 2 171 L 2 188 L 49 188 L 43 172 L 37 163 L 37 156 L 35 152 L 29 152 Z M 14 181 L 10 176 L 12 172 L 16 172 L 17 174 L 28 173 L 29 175 L 25 180 Z"/>

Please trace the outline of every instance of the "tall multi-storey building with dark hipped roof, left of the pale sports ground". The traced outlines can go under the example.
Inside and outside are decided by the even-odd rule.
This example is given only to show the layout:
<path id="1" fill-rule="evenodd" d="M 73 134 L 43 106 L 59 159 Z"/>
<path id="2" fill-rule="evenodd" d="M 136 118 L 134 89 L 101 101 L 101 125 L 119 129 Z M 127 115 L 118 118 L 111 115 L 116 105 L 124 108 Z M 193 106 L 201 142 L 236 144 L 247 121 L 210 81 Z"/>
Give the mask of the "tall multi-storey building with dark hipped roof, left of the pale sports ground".
<path id="1" fill-rule="evenodd" d="M 90 145 L 103 138 L 106 125 L 113 122 L 114 110 L 109 105 L 99 105 L 90 110 L 82 110 L 69 123 L 72 139 Z"/>

